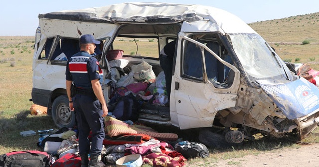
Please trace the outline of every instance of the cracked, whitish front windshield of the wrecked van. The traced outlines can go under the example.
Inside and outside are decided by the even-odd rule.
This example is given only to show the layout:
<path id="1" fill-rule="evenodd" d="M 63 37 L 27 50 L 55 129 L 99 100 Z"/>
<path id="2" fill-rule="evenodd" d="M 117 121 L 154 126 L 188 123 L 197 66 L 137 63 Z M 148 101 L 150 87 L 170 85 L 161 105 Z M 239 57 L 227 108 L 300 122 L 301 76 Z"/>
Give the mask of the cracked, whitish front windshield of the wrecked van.
<path id="1" fill-rule="evenodd" d="M 276 78 L 287 80 L 289 77 L 284 62 L 273 54 L 266 41 L 258 34 L 229 34 L 234 51 L 250 81 Z M 285 72 L 286 70 L 286 72 Z"/>

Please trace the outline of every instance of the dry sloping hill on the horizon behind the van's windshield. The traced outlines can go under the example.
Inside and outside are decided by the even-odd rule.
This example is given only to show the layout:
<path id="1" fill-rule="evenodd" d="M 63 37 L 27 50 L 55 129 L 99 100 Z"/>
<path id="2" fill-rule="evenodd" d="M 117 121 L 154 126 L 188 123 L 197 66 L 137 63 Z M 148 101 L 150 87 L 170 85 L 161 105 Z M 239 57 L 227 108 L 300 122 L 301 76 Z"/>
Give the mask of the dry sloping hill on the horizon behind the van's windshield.
<path id="1" fill-rule="evenodd" d="M 319 12 L 248 25 L 269 43 L 319 43 Z"/>

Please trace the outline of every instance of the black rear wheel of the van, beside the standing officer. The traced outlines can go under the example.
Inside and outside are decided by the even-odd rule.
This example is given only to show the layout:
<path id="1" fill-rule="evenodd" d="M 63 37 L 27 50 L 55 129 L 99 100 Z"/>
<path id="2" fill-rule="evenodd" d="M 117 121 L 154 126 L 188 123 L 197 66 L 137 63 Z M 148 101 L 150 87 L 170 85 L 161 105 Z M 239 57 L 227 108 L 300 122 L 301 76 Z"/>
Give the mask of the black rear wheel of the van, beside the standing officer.
<path id="1" fill-rule="evenodd" d="M 58 96 L 52 104 L 52 118 L 58 128 L 73 128 L 75 113 L 69 108 L 69 99 L 66 95 Z"/>

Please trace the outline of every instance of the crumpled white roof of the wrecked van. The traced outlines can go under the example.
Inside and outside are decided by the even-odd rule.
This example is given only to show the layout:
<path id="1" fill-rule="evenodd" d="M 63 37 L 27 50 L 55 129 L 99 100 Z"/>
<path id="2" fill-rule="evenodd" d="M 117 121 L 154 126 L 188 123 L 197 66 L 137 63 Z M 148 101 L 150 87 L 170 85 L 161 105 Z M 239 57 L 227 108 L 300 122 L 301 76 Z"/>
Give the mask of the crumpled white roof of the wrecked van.
<path id="1" fill-rule="evenodd" d="M 125 22 L 168 24 L 183 21 L 190 23 L 205 21 L 204 23 L 215 24 L 214 27 L 217 25 L 227 33 L 256 33 L 244 21 L 227 11 L 210 6 L 172 3 L 121 3 L 103 7 L 39 14 L 39 19 L 113 24 Z"/>

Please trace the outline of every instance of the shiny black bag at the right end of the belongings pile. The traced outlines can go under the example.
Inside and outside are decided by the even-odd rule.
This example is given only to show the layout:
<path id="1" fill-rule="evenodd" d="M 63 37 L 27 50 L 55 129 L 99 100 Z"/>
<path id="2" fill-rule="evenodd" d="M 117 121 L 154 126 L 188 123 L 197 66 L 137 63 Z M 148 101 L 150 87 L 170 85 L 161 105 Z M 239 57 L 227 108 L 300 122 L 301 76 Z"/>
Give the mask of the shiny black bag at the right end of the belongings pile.
<path id="1" fill-rule="evenodd" d="M 175 145 L 175 151 L 181 153 L 186 159 L 202 157 L 209 157 L 209 150 L 202 143 L 182 141 Z"/>

